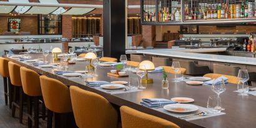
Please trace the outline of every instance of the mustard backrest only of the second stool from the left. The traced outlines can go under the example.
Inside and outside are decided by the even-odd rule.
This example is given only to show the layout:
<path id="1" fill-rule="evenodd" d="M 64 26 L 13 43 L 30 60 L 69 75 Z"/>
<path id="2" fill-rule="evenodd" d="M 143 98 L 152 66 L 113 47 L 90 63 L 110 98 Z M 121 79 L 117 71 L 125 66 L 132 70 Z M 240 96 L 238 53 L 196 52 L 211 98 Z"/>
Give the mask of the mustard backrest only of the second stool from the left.
<path id="1" fill-rule="evenodd" d="M 14 62 L 9 61 L 8 62 L 8 67 L 9 67 L 9 74 L 10 74 L 11 84 L 13 86 L 22 86 L 21 72 L 19 71 L 21 66 L 19 64 L 16 64 Z"/>

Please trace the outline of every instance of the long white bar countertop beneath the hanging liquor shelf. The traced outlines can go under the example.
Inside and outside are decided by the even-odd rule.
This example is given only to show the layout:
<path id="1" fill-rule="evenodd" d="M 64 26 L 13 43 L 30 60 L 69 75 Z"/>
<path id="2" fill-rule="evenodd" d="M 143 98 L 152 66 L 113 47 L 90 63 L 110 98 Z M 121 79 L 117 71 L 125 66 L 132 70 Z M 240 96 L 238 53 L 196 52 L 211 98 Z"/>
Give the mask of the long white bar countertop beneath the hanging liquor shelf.
<path id="1" fill-rule="evenodd" d="M 224 52 L 226 48 L 212 49 L 152 49 L 136 51 L 139 54 L 151 54 L 167 57 L 179 57 L 185 59 L 198 59 L 204 61 L 230 62 L 235 64 L 256 65 L 256 58 L 239 57 L 239 56 L 224 56 L 215 54 L 202 54 L 205 52 Z"/>

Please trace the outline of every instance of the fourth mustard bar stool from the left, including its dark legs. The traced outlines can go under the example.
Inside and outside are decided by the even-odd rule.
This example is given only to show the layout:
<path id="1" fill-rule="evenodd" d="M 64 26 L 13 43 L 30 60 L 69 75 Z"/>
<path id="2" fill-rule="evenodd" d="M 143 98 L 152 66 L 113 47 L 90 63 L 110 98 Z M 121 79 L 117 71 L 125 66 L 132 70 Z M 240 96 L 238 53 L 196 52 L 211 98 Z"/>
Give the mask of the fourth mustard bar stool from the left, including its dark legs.
<path id="1" fill-rule="evenodd" d="M 74 115 L 72 114 L 71 97 L 69 88 L 56 79 L 40 76 L 42 97 L 47 108 L 47 128 L 52 127 L 52 116 L 54 114 L 55 127 L 72 127 Z M 84 106 L 85 107 L 85 106 Z M 71 121 L 60 122 L 60 117 L 71 117 Z M 75 123 L 75 122 L 74 122 Z"/>

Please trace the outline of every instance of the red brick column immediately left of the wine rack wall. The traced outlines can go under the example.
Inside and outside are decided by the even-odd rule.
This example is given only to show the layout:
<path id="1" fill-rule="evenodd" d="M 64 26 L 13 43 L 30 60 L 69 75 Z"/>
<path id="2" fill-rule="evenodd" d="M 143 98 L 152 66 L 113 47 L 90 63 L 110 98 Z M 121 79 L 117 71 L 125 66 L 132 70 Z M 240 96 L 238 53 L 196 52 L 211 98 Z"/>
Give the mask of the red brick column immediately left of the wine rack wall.
<path id="1" fill-rule="evenodd" d="M 72 16 L 62 15 L 62 37 L 72 38 Z"/>

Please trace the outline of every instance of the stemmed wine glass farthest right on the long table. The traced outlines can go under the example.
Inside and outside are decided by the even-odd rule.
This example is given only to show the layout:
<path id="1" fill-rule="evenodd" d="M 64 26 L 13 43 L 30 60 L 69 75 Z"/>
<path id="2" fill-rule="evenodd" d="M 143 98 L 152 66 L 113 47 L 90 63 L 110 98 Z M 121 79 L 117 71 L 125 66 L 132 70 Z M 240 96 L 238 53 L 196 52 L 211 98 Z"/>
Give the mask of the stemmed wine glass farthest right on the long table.
<path id="1" fill-rule="evenodd" d="M 242 89 L 244 89 L 244 84 L 249 80 L 249 73 L 246 69 L 240 69 L 238 74 L 239 82 L 242 82 Z M 240 96 L 248 96 L 246 93 L 240 92 Z"/>

